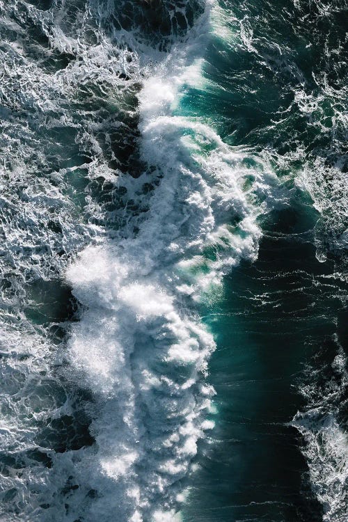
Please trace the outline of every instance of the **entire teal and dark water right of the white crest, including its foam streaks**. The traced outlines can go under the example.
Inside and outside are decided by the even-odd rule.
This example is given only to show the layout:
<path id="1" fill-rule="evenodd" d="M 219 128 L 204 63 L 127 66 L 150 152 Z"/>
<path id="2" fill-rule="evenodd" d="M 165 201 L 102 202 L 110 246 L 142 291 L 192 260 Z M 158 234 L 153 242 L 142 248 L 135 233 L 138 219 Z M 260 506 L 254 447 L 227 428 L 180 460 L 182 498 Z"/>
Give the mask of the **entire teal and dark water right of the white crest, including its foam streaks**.
<path id="1" fill-rule="evenodd" d="M 348 448 L 347 3 L 220 6 L 220 40 L 205 66 L 209 98 L 196 96 L 194 110 L 204 108 L 226 143 L 248 145 L 268 159 L 289 199 L 287 209 L 260 217 L 259 258 L 226 278 L 228 304 L 221 301 L 214 310 L 225 316 L 217 331 L 222 350 L 211 363 L 220 372 L 211 378 L 221 409 L 215 431 L 220 449 L 205 448 L 200 463 L 207 472 L 200 473 L 197 488 L 204 493 L 192 493 L 188 519 L 201 509 L 200 518 L 212 521 L 223 513 L 221 519 L 342 522 Z M 236 319 L 230 319 L 233 313 Z M 230 331 L 236 328 L 234 343 Z M 230 373 L 223 349 L 235 351 Z M 289 445 L 283 451 L 284 438 Z M 290 450 L 290 441 L 305 462 Z M 248 450 L 240 449 L 244 444 Z M 221 482 L 208 489 L 214 473 Z M 248 479 L 236 479 L 238 473 Z"/>

